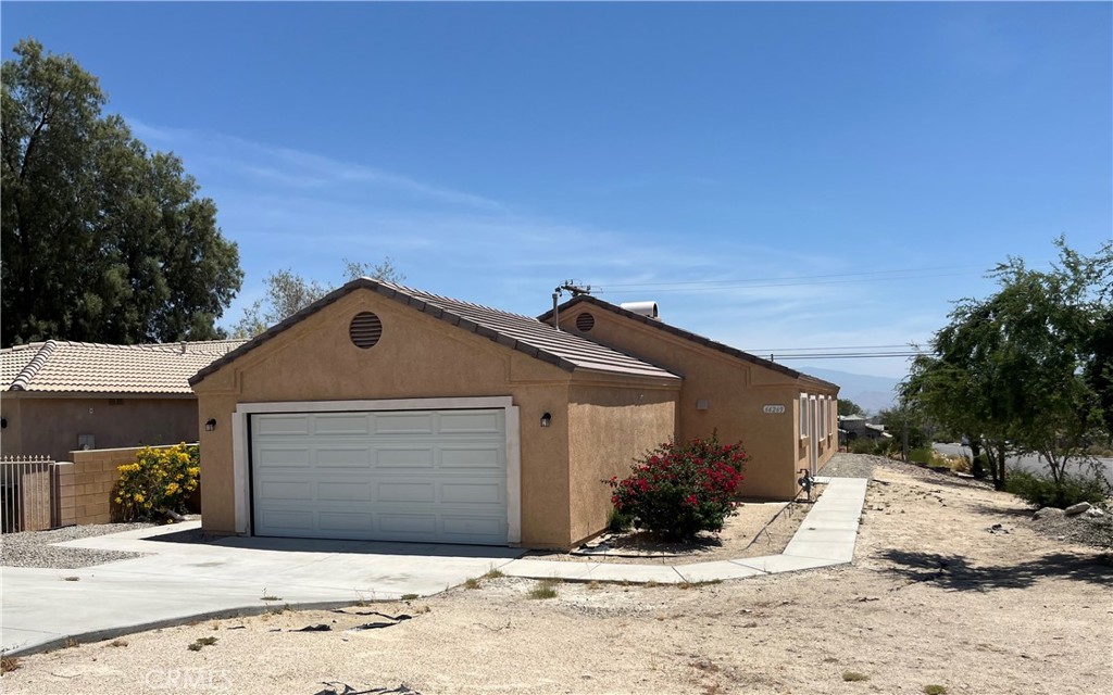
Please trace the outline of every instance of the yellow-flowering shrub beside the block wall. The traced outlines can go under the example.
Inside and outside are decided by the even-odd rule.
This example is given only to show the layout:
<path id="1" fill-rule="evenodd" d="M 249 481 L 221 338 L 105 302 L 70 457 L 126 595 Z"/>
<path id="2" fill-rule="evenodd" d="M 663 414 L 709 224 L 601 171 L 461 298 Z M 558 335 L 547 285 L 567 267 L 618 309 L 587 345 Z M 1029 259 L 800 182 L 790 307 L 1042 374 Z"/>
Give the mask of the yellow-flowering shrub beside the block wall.
<path id="1" fill-rule="evenodd" d="M 144 447 L 134 464 L 119 467 L 116 504 L 124 520 L 151 519 L 184 512 L 189 494 L 200 484 L 197 446 Z"/>

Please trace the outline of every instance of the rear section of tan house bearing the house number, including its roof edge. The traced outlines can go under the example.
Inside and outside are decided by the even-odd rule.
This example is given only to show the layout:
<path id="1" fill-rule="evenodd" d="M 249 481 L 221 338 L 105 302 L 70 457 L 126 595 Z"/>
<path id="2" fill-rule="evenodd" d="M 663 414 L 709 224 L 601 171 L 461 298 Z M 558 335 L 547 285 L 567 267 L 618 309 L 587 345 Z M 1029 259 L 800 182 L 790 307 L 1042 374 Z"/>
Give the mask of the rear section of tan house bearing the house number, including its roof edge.
<path id="1" fill-rule="evenodd" d="M 678 440 L 742 441 L 750 456 L 742 493 L 792 499 L 838 448 L 838 386 L 670 326 L 654 302 L 615 306 L 580 295 L 558 307 L 561 330 L 637 356 L 683 377 Z M 553 311 L 539 317 L 552 322 Z"/>

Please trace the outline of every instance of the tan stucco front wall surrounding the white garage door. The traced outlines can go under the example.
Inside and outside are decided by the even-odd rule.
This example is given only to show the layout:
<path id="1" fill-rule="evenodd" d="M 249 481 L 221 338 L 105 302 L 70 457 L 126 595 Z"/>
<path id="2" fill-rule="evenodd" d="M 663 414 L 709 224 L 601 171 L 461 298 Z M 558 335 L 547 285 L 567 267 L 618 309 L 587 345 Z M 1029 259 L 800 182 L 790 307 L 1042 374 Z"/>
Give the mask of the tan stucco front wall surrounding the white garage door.
<path id="1" fill-rule="evenodd" d="M 383 335 L 371 349 L 348 325 L 371 310 Z M 521 421 L 522 545 L 568 547 L 574 539 L 569 485 L 572 374 L 357 289 L 196 384 L 205 530 L 233 534 L 233 413 L 237 403 L 510 396 Z M 540 427 L 542 414 L 552 426 Z M 653 417 L 657 417 L 656 415 Z M 594 529 L 594 530 L 598 530 Z M 590 532 L 589 532 L 590 533 Z"/>

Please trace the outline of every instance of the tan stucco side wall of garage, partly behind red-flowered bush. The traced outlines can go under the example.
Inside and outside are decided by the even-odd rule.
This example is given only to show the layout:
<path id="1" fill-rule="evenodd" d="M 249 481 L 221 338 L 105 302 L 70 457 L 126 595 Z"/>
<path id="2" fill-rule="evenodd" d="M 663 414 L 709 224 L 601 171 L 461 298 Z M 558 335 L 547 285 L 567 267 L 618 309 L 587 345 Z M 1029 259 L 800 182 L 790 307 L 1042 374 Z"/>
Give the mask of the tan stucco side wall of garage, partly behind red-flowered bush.
<path id="1" fill-rule="evenodd" d="M 611 490 L 602 480 L 630 475 L 634 458 L 676 433 L 676 388 L 575 384 L 569 393 L 571 538 L 607 526 Z"/>

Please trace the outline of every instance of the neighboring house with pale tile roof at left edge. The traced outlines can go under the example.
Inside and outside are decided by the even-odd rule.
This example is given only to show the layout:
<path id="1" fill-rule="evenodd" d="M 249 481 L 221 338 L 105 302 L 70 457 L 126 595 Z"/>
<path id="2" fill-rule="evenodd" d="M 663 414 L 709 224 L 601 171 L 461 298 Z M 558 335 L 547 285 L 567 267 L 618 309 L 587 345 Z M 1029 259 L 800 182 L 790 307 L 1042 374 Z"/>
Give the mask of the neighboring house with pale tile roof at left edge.
<path id="1" fill-rule="evenodd" d="M 69 460 L 77 449 L 197 440 L 189 377 L 243 340 L 0 350 L 0 453 Z"/>

